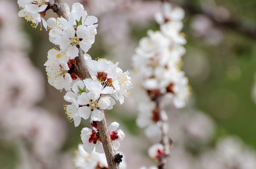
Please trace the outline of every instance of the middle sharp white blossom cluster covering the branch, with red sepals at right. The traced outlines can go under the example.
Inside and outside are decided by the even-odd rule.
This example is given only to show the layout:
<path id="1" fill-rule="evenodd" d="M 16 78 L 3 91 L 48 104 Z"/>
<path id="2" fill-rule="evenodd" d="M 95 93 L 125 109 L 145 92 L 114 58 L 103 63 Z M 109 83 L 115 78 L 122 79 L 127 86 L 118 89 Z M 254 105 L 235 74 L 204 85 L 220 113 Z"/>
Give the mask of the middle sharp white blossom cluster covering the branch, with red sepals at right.
<path id="1" fill-rule="evenodd" d="M 93 121 L 104 118 L 102 109 L 112 109 L 115 100 L 122 104 L 128 96 L 127 88 L 131 86 L 128 71 L 123 72 L 117 64 L 106 60 L 87 60 L 92 79 L 78 80 L 72 85 L 64 99 L 71 102 L 65 107 L 67 117 L 74 120 L 75 126 L 91 115 Z"/>

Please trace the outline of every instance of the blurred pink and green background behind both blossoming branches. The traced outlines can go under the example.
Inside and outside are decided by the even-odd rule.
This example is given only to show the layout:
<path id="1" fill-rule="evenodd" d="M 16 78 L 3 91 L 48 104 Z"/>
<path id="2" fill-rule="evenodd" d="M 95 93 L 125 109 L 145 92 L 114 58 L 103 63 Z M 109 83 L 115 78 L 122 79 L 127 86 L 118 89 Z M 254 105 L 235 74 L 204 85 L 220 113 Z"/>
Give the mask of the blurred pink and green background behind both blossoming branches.
<path id="1" fill-rule="evenodd" d="M 50 1 L 51 2 L 51 1 Z M 64 0 L 72 5 L 73 0 Z M 77 0 L 98 18 L 92 58 L 131 70 L 130 60 L 148 29 L 158 30 L 160 0 Z M 183 71 L 192 89 L 183 109 L 169 107 L 174 140 L 172 169 L 256 169 L 256 1 L 171 0 L 184 9 Z M 53 3 L 53 2 L 52 2 Z M 66 118 L 65 92 L 47 82 L 48 31 L 18 17 L 16 0 L 0 0 L 0 168 L 73 169 L 79 127 Z M 56 17 L 47 11 L 46 19 Z M 128 168 L 149 167 L 148 140 L 135 125 L 136 102 L 125 98 L 112 111 L 126 134 L 120 142 Z"/>

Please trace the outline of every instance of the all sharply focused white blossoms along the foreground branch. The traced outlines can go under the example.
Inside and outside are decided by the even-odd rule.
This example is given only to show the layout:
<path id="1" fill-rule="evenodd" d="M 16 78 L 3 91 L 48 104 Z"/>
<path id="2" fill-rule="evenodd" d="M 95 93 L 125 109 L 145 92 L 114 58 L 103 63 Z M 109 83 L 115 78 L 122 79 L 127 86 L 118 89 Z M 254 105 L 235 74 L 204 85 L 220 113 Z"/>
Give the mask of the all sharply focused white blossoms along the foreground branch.
<path id="1" fill-rule="evenodd" d="M 75 127 L 80 125 L 81 118 L 91 118 L 93 130 L 83 128 L 81 131 L 83 149 L 91 152 L 95 148 L 96 152 L 104 153 L 97 121 L 104 118 L 104 109 L 113 108 L 115 100 L 124 103 L 124 96 L 128 97 L 127 89 L 132 83 L 128 71 L 123 72 L 118 62 L 114 64 L 100 58 L 92 60 L 86 53 L 94 43 L 98 19 L 89 16 L 80 3 L 74 3 L 71 10 L 64 4 L 67 18 L 49 18 L 47 21 L 41 16 L 54 6 L 49 4 L 49 0 L 18 0 L 18 4 L 22 9 L 19 16 L 31 21 L 33 27 L 42 20 L 44 27 L 50 29 L 49 41 L 60 48 L 48 51 L 44 65 L 49 84 L 60 91 L 67 91 L 64 99 L 71 103 L 64 106 L 67 118 L 74 121 Z M 85 60 L 86 67 L 83 66 L 89 76 L 85 79 L 79 72 L 77 57 Z M 118 127 L 117 122 L 109 126 L 115 150 L 120 147 L 119 140 L 125 137 L 121 129 L 116 131 Z"/>

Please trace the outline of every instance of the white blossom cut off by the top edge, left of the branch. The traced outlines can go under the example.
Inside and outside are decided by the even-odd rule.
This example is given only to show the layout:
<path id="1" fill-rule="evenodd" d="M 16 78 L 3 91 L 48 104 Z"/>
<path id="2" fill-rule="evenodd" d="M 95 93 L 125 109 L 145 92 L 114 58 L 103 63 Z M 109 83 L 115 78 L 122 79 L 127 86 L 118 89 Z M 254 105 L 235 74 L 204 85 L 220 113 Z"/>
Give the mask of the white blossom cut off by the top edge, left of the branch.
<path id="1" fill-rule="evenodd" d="M 47 30 L 47 23 L 42 17 L 45 16 L 45 9 L 49 0 L 18 0 L 21 10 L 19 17 L 24 17 L 27 21 L 32 22 L 32 27 L 36 28 L 38 23 L 43 22 L 43 27 Z M 40 30 L 42 29 L 42 25 Z"/>

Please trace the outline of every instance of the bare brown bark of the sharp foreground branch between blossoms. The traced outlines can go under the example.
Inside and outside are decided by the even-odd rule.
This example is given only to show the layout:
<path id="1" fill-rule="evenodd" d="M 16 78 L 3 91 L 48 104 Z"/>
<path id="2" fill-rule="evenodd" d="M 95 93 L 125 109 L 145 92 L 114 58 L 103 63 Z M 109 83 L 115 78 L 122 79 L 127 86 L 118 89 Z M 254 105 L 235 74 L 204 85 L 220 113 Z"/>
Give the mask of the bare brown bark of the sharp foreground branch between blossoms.
<path id="1" fill-rule="evenodd" d="M 63 0 L 54 0 L 55 9 L 54 12 L 57 13 L 59 17 L 63 17 L 66 20 L 69 20 L 67 13 L 65 11 Z M 77 72 L 81 76 L 82 79 L 92 78 L 86 66 L 85 59 L 83 57 L 83 51 L 81 48 L 79 49 L 79 56 L 76 57 L 76 65 L 77 65 Z M 104 111 L 101 109 L 102 113 Z M 97 121 L 97 125 L 99 128 L 99 136 L 101 138 L 101 142 L 103 145 L 103 149 L 107 158 L 108 168 L 109 169 L 119 169 L 119 162 L 115 162 L 115 150 L 112 145 L 112 140 L 110 138 L 109 130 L 108 130 L 108 123 L 106 121 L 106 117 L 104 116 L 103 120 L 100 122 Z"/>

